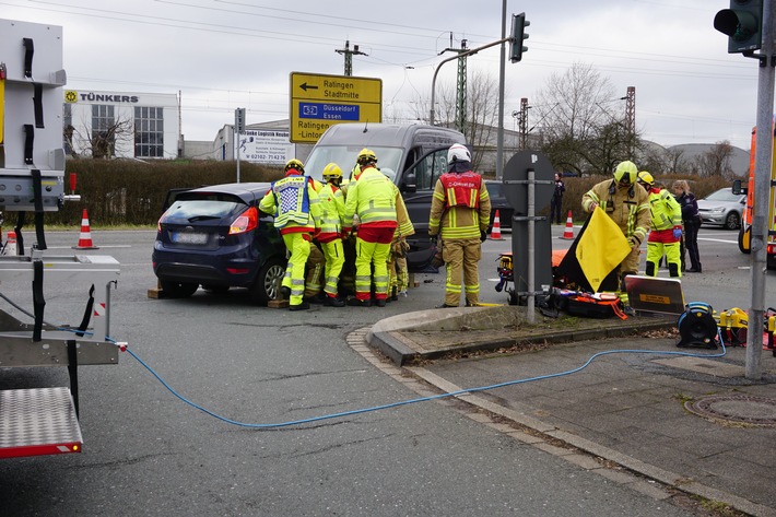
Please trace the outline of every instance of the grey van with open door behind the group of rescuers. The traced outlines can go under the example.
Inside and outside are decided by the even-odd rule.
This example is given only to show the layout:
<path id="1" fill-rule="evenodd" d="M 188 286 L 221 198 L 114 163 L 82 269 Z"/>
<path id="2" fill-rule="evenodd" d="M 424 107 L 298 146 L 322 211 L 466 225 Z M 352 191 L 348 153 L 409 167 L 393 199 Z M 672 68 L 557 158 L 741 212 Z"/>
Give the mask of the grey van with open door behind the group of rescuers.
<path id="1" fill-rule="evenodd" d="M 321 179 L 324 167 L 334 162 L 345 178 L 358 152 L 368 148 L 377 156 L 377 167 L 399 187 L 415 235 L 410 245 L 408 266 L 419 272 L 428 268 L 435 249 L 428 237 L 428 213 L 434 186 L 447 172 L 447 150 L 466 144 L 459 131 L 422 124 L 338 124 L 315 144 L 305 162 L 305 173 Z"/>

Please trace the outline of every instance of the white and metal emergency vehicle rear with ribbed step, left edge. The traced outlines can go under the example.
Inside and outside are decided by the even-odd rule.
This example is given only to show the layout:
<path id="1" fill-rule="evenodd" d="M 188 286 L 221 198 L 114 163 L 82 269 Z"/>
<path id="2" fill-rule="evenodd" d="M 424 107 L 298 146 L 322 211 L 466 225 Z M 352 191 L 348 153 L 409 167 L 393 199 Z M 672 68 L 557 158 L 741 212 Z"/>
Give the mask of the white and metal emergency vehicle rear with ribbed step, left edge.
<path id="1" fill-rule="evenodd" d="M 44 213 L 79 199 L 66 196 L 63 185 L 66 81 L 61 27 L 0 20 L 0 210 L 19 212 L 20 234 L 31 212 L 36 238 L 28 255 L 20 246 L 0 257 L 0 287 L 27 280 L 33 297 L 31 324 L 0 310 L 0 368 L 67 366 L 70 376 L 69 387 L 0 390 L 0 458 L 80 453 L 78 367 L 118 363 L 119 346 L 108 338 L 118 262 L 47 252 Z M 45 322 L 44 281 L 90 291 L 78 328 Z"/>

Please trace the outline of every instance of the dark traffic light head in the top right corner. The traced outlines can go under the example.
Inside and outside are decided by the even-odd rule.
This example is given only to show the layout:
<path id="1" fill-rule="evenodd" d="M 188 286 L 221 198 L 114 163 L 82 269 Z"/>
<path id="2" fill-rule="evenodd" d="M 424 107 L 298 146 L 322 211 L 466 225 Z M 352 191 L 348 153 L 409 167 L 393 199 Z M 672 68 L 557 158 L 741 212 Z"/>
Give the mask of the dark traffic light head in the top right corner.
<path id="1" fill-rule="evenodd" d="M 730 9 L 714 16 L 714 28 L 728 35 L 728 54 L 760 49 L 763 0 L 730 0 Z"/>

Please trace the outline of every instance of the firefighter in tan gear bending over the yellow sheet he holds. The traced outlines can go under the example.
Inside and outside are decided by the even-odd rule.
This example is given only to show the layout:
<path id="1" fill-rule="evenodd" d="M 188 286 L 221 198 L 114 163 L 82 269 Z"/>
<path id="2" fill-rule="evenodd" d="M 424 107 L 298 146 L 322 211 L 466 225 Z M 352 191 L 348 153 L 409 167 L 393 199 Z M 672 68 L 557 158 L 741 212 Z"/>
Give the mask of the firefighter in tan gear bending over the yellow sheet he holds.
<path id="1" fill-rule="evenodd" d="M 620 162 L 614 169 L 614 178 L 593 185 L 581 201 L 586 212 L 601 207 L 627 238 L 631 252 L 620 263 L 621 279 L 638 273 L 639 246 L 647 237 L 651 220 L 649 196 L 636 181 L 637 175 L 636 164 Z"/>

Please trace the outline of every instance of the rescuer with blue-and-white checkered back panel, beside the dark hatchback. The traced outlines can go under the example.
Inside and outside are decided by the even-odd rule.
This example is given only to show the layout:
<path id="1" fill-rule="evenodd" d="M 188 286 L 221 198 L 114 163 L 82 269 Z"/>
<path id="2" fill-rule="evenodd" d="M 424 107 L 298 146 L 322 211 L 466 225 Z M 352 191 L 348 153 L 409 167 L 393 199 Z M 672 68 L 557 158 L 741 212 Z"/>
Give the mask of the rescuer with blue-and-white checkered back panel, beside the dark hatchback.
<path id="1" fill-rule="evenodd" d="M 291 310 L 304 310 L 305 263 L 310 254 L 310 240 L 320 228 L 320 205 L 311 178 L 304 176 L 298 160 L 285 165 L 285 177 L 274 181 L 259 202 L 259 210 L 274 215 L 274 226 L 291 251 L 281 292 L 289 297 Z"/>

